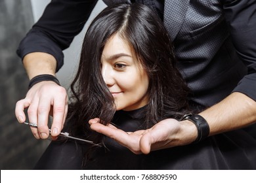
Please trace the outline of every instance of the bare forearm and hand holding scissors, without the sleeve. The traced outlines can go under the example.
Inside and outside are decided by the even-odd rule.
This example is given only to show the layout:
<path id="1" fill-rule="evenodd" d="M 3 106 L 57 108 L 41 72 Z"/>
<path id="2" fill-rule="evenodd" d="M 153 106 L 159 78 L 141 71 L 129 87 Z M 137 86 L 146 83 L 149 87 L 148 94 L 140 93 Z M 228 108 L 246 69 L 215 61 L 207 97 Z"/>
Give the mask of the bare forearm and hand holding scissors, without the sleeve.
<path id="1" fill-rule="evenodd" d="M 56 59 L 50 54 L 43 52 L 27 54 L 23 63 L 30 79 L 43 74 L 55 75 Z M 62 130 L 68 111 L 66 90 L 51 81 L 39 82 L 28 91 L 25 99 L 16 103 L 15 114 L 20 123 L 26 120 L 25 108 L 28 108 L 29 121 L 38 126 L 31 128 L 36 139 L 45 139 L 49 136 L 47 126 L 49 113 L 53 114 L 51 134 L 56 136 Z"/>

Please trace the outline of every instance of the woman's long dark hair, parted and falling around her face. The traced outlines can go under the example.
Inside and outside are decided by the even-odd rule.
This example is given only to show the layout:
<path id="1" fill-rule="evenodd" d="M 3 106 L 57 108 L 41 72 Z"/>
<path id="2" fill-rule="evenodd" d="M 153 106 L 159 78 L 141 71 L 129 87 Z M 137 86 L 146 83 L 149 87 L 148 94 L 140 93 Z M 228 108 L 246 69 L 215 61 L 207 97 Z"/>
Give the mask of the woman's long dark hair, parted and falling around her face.
<path id="1" fill-rule="evenodd" d="M 108 124 L 116 112 L 100 71 L 104 45 L 116 34 L 133 48 L 150 80 L 144 127 L 152 127 L 163 118 L 179 119 L 188 107 L 188 88 L 176 68 L 173 45 L 160 18 L 139 3 L 114 5 L 96 16 L 83 41 L 71 86 L 74 98 L 69 116 L 75 118 L 73 133 L 89 132 L 88 121 L 92 118 Z"/>

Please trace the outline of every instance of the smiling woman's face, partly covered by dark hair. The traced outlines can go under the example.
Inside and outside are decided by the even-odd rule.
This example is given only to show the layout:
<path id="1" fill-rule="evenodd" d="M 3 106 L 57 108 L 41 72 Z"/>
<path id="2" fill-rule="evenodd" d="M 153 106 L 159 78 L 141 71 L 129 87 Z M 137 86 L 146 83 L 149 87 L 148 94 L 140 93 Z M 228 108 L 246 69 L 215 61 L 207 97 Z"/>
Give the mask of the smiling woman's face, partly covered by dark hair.
<path id="1" fill-rule="evenodd" d="M 148 103 L 148 75 L 132 48 L 118 34 L 104 46 L 101 64 L 102 76 L 114 97 L 116 110 L 135 110 Z"/>

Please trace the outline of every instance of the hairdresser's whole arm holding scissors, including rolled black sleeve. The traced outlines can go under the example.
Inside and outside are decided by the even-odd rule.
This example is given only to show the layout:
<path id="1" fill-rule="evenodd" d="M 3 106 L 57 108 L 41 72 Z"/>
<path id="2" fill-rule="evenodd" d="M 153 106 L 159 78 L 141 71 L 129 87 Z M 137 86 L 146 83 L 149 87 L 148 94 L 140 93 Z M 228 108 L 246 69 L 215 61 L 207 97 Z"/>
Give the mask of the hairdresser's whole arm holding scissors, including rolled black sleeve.
<path id="1" fill-rule="evenodd" d="M 68 48 L 75 35 L 83 29 L 96 2 L 52 0 L 47 5 L 43 16 L 17 49 L 30 79 L 41 74 L 55 75 L 62 67 L 62 50 Z M 28 91 L 25 99 L 16 104 L 15 113 L 19 122 L 25 121 L 24 108 L 28 108 L 29 121 L 38 125 L 38 131 L 32 128 L 37 139 L 48 137 L 49 111 L 53 112 L 51 134 L 56 136 L 62 130 L 68 110 L 66 90 L 54 82 L 39 82 Z"/>

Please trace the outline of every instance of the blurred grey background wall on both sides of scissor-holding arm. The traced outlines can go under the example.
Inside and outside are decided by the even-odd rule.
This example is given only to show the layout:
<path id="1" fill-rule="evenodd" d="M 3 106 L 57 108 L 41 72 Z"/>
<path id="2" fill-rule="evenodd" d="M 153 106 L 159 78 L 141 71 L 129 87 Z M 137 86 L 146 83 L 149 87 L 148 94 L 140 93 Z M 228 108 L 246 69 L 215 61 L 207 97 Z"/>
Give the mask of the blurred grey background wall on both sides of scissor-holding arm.
<path id="1" fill-rule="evenodd" d="M 49 144 L 37 140 L 30 128 L 19 124 L 14 115 L 16 101 L 25 97 L 28 76 L 16 55 L 21 39 L 43 13 L 49 0 L 0 0 L 0 168 L 9 170 L 33 169 Z M 106 7 L 98 1 L 83 31 L 64 50 L 64 67 L 57 73 L 67 90 L 74 77 L 85 31 L 92 18 Z"/>

